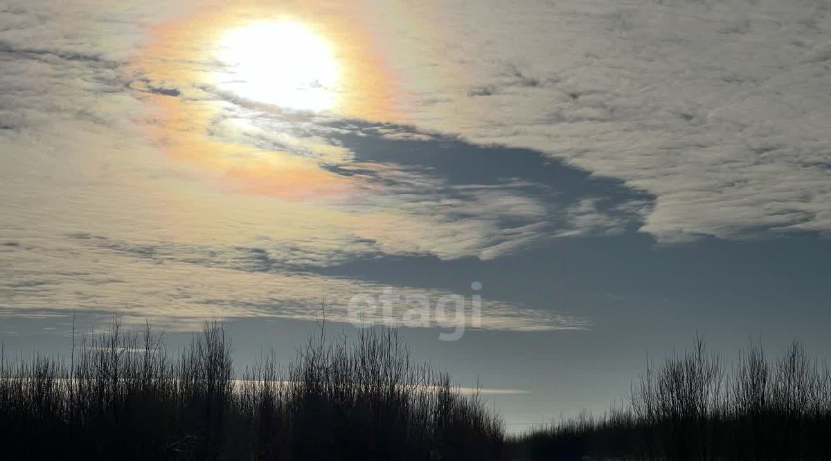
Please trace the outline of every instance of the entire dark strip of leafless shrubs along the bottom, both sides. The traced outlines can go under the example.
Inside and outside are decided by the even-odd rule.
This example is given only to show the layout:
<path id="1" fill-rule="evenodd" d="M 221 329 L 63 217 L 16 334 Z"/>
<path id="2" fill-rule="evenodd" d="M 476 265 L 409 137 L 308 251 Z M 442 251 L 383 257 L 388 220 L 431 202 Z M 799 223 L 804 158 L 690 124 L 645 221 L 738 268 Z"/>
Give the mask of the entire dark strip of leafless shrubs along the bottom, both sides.
<path id="1" fill-rule="evenodd" d="M 831 459 L 831 370 L 798 343 L 730 365 L 697 340 L 627 399 L 527 434 L 411 363 L 395 331 L 312 336 L 285 366 L 235 370 L 209 322 L 171 355 L 150 331 L 81 336 L 70 356 L 0 354 L 0 459 Z"/>

